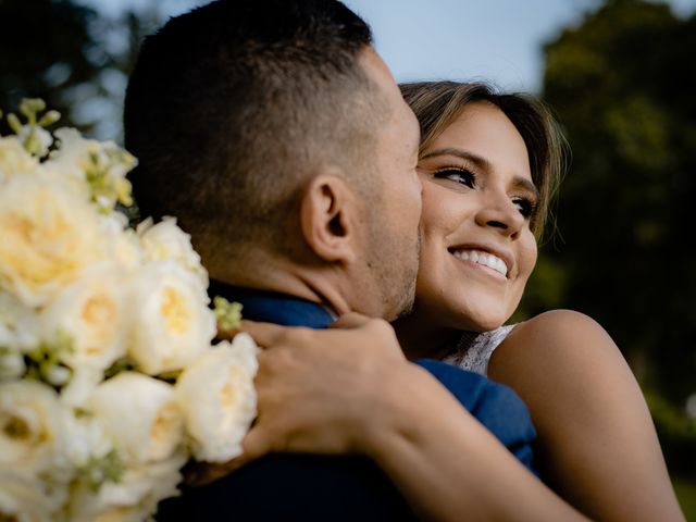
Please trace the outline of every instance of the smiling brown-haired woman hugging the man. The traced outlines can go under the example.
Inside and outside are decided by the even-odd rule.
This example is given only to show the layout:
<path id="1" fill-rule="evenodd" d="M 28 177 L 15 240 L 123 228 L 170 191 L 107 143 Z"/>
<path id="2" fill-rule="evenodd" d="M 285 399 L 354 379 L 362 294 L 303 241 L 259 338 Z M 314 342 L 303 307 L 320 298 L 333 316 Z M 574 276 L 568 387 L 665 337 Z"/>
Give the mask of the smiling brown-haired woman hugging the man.
<path id="1" fill-rule="evenodd" d="M 564 310 L 501 327 L 536 262 L 562 163 L 552 120 L 527 97 L 480 84 L 402 91 L 422 129 L 423 237 L 413 313 L 395 324 L 400 345 L 409 359 L 444 358 L 512 387 L 558 496 L 399 359 L 384 324 L 355 315 L 341 331 L 248 325 L 271 347 L 273 378 L 258 384 L 273 388 L 274 403 L 260 408 L 274 421 L 250 432 L 246 459 L 364 452 L 427 519 L 570 520 L 572 506 L 596 520 L 683 520 L 641 390 L 606 332 Z"/>

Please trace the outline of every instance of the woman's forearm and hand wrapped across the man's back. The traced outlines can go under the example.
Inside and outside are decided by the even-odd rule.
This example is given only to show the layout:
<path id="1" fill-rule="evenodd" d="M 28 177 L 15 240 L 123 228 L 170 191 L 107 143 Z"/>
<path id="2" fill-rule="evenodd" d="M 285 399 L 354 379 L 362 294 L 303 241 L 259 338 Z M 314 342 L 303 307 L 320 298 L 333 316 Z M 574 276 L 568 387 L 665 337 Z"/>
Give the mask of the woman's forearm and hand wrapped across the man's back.
<path id="1" fill-rule="evenodd" d="M 351 326 L 248 325 L 268 347 L 257 376 L 259 419 L 245 456 L 219 472 L 270 451 L 357 452 L 426 520 L 584 520 L 409 363 L 387 323 L 353 315 Z"/>

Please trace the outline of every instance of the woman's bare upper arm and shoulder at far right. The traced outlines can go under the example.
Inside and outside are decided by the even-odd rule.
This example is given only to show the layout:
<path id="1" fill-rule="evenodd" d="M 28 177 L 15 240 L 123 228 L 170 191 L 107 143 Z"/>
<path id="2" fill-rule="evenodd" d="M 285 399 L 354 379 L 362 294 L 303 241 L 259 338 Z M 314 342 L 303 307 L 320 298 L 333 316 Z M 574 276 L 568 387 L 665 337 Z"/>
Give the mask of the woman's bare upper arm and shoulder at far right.
<path id="1" fill-rule="evenodd" d="M 492 378 L 526 402 L 545 481 L 594 520 L 683 521 L 641 389 L 605 330 L 558 310 L 518 325 Z"/>

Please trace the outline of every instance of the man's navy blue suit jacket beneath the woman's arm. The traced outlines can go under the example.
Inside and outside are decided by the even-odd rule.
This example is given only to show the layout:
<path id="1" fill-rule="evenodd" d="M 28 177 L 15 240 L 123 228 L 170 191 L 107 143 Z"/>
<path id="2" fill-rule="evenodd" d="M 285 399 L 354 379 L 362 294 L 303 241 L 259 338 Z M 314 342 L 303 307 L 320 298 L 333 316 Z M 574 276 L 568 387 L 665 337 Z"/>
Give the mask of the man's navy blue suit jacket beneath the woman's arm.
<path id="1" fill-rule="evenodd" d="M 210 293 L 241 302 L 244 316 L 256 321 L 323 328 L 334 320 L 322 306 L 282 294 L 217 283 L 211 283 Z M 534 428 L 526 407 L 511 389 L 439 361 L 418 364 L 531 467 Z M 273 453 L 210 485 L 184 488 L 181 497 L 160 505 L 157 520 L 407 521 L 415 517 L 366 458 Z"/>

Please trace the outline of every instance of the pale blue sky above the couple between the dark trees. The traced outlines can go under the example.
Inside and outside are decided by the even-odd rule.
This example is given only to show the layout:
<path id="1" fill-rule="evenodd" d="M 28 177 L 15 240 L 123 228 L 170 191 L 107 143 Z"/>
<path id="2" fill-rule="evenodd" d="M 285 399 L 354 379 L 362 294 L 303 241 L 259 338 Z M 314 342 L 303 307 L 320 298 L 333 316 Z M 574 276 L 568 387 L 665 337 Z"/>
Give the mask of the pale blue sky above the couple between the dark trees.
<path id="1" fill-rule="evenodd" d="M 79 0 L 115 14 L 157 5 L 174 15 L 206 0 Z M 398 80 L 487 79 L 504 89 L 536 91 L 544 41 L 580 22 L 599 0 L 345 0 L 373 28 L 376 47 Z M 696 0 L 669 0 L 696 11 Z"/>

